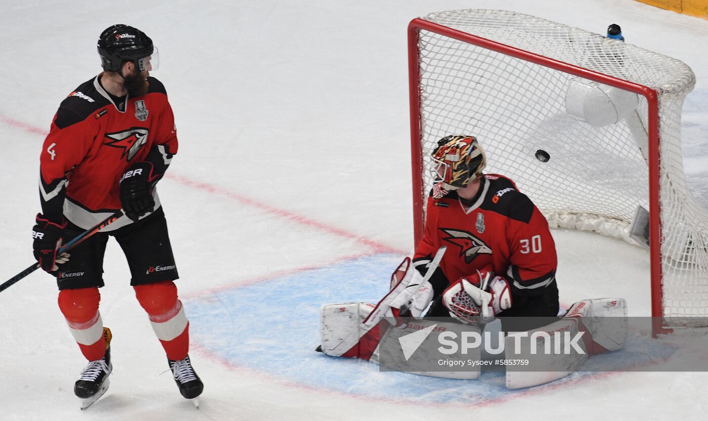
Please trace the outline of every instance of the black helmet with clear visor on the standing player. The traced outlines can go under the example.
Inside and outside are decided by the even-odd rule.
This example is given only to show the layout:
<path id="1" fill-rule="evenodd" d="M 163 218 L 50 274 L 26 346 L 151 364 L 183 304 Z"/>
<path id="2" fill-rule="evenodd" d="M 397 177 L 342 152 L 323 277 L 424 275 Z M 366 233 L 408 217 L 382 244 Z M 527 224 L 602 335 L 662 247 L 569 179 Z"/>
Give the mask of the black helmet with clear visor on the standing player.
<path id="1" fill-rule="evenodd" d="M 132 26 L 110 26 L 101 33 L 97 47 L 105 70 L 120 72 L 126 61 L 134 62 L 140 71 L 157 68 L 157 49 L 152 45 L 152 40 L 142 30 Z"/>

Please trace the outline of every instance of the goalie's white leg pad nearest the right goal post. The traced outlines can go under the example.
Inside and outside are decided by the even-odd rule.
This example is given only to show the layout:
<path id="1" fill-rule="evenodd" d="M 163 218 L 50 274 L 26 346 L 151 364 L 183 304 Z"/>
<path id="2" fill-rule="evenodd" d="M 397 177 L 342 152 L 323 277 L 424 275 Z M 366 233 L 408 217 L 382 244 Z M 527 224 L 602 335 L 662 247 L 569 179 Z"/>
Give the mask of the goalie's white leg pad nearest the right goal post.
<path id="1" fill-rule="evenodd" d="M 506 359 L 528 360 L 530 367 L 549 369 L 508 369 L 506 387 L 527 388 L 558 380 L 576 371 L 590 355 L 615 351 L 626 342 L 627 302 L 624 298 L 578 301 L 561 320 L 506 337 Z"/>

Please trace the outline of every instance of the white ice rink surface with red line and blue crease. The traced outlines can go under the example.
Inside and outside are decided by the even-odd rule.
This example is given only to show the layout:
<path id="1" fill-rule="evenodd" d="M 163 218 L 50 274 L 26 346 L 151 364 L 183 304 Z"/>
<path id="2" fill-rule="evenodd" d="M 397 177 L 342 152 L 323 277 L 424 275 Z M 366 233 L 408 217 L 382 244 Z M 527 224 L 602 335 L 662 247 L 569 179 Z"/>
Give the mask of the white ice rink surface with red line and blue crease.
<path id="1" fill-rule="evenodd" d="M 80 412 L 85 364 L 35 273 L 0 293 L 0 420 L 704 419 L 706 373 L 571 376 L 510 393 L 500 378 L 379 373 L 313 352 L 322 303 L 377 301 L 413 248 L 406 26 L 506 9 L 627 38 L 694 70 L 683 110 L 688 183 L 708 208 L 708 21 L 615 1 L 14 1 L 0 13 L 0 281 L 32 261 L 38 156 L 59 102 L 100 71 L 96 39 L 144 30 L 178 125 L 160 198 L 205 382 L 181 398 L 115 242 L 101 314 L 110 390 Z M 649 315 L 649 257 L 554 231 L 561 301 L 620 296 Z M 698 391 L 698 393 L 696 393 Z"/>

